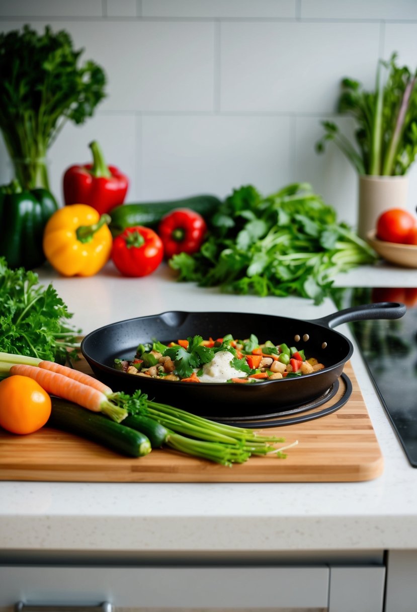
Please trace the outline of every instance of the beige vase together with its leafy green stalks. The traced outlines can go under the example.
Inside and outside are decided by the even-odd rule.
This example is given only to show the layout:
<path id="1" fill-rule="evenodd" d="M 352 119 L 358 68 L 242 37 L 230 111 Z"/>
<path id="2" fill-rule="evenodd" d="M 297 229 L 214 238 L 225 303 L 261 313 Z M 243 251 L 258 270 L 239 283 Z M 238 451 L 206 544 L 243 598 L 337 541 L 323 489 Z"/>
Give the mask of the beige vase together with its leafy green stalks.
<path id="1" fill-rule="evenodd" d="M 417 155 L 417 72 L 396 60 L 393 53 L 378 62 L 375 91 L 342 80 L 338 112 L 355 120 L 355 143 L 332 121 L 322 122 L 325 133 L 316 143 L 323 152 L 333 141 L 358 172 L 358 234 L 364 239 L 383 211 L 407 207 L 407 171 Z"/>

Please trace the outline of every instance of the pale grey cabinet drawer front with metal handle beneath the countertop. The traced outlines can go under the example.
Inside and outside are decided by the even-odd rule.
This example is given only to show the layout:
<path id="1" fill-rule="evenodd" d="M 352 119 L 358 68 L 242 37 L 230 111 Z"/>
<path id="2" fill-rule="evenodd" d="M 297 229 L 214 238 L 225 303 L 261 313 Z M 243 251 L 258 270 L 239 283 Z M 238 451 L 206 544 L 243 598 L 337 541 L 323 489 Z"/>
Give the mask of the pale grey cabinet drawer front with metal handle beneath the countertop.
<path id="1" fill-rule="evenodd" d="M 385 567 L 0 566 L 0 608 L 97 605 L 156 610 L 382 612 Z"/>

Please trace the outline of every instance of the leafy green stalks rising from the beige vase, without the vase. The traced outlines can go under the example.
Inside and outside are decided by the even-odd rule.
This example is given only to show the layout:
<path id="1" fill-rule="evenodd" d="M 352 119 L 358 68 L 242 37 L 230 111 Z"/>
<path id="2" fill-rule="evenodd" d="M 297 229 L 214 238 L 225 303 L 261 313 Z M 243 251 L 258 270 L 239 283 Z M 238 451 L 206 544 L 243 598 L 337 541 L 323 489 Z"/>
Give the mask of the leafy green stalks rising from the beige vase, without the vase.
<path id="1" fill-rule="evenodd" d="M 378 63 L 375 91 L 365 91 L 351 78 L 344 78 L 341 87 L 338 111 L 355 119 L 358 149 L 334 122 L 324 121 L 317 152 L 334 141 L 359 174 L 405 174 L 417 155 L 417 72 L 397 66 L 394 53 Z"/>

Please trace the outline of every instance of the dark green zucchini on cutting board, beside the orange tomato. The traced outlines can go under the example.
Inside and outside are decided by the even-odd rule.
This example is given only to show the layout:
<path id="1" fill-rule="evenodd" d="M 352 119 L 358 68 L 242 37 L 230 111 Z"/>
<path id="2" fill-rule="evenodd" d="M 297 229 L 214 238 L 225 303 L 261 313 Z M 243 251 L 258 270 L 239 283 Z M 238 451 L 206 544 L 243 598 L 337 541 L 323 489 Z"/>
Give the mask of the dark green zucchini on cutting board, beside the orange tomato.
<path id="1" fill-rule="evenodd" d="M 89 412 L 71 401 L 57 397 L 51 400 L 51 416 L 47 423 L 50 427 L 70 431 L 129 457 L 143 457 L 152 450 L 149 438 L 140 431 Z"/>

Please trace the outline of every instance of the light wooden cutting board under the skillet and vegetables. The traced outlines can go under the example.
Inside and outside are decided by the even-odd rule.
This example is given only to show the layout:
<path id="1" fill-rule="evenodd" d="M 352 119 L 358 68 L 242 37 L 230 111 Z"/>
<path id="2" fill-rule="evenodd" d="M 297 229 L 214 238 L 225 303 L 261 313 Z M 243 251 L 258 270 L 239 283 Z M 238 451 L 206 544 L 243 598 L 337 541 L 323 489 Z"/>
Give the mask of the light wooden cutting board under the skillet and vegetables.
<path id="1" fill-rule="evenodd" d="M 86 362 L 79 369 L 89 371 Z M 0 480 L 57 482 L 347 482 L 374 479 L 383 457 L 350 362 L 344 372 L 352 382 L 350 400 L 333 414 L 300 424 L 266 428 L 282 436 L 287 458 L 251 457 L 231 468 L 155 449 L 126 458 L 94 442 L 51 428 L 27 436 L 0 431 Z M 333 405 L 344 392 L 328 402 Z M 326 404 L 316 410 L 323 410 Z M 260 431 L 260 430 L 259 430 Z"/>

